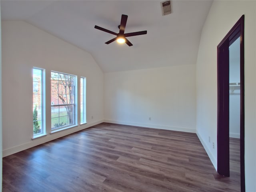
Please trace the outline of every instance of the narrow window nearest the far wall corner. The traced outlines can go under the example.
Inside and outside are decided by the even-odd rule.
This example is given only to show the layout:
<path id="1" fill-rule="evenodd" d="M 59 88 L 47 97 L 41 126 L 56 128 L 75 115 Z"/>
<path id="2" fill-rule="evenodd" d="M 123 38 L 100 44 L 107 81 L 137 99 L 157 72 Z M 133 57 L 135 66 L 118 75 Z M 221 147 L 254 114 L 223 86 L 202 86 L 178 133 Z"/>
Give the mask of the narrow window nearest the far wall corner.
<path id="1" fill-rule="evenodd" d="M 80 78 L 80 124 L 86 123 L 86 78 Z"/>

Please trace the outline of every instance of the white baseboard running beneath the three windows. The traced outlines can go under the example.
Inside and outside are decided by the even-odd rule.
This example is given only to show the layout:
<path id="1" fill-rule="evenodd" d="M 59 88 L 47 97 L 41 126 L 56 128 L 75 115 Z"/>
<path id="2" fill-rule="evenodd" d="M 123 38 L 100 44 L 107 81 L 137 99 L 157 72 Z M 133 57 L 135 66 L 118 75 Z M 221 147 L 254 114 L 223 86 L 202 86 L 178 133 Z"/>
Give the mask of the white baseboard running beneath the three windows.
<path id="1" fill-rule="evenodd" d="M 74 132 L 78 132 L 80 130 L 89 128 L 91 126 L 100 124 L 102 122 L 104 122 L 104 120 L 98 120 L 98 121 L 95 121 L 95 122 L 82 124 L 82 125 L 76 126 L 74 128 L 70 128 L 70 129 L 67 129 L 67 130 L 62 130 L 62 131 L 56 132 L 54 134 L 48 134 L 44 137 L 31 140 L 30 142 L 24 143 L 22 145 L 15 146 L 15 147 L 3 150 L 3 157 L 6 157 L 8 155 L 23 151 L 25 149 L 28 149 L 28 148 L 31 148 L 31 147 L 34 147 L 34 146 L 37 146 L 37 145 L 40 145 L 40 144 L 43 144 L 43 143 L 46 143 L 46 142 L 49 142 L 51 140 L 54 140 L 54 139 L 57 139 L 57 138 L 60 138 L 60 137 L 66 136 L 66 135 L 72 134 Z"/>

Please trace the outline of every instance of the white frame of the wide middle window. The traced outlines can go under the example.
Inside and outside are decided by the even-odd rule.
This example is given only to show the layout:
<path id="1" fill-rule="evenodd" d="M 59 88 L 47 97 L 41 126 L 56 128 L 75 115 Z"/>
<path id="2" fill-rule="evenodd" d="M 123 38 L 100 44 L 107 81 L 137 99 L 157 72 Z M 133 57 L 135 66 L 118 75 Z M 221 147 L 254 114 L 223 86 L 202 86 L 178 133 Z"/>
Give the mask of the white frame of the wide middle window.
<path id="1" fill-rule="evenodd" d="M 59 80 L 59 74 L 63 74 L 63 75 L 68 75 L 68 76 L 73 76 L 74 77 L 74 103 L 73 104 L 52 104 L 52 73 L 57 73 L 58 74 L 58 80 Z M 50 76 L 50 84 L 51 84 L 51 108 L 52 107 L 63 107 L 63 106 L 74 106 L 74 109 L 73 109 L 73 115 L 74 115 L 74 123 L 73 124 L 68 124 L 66 126 L 61 126 L 59 128 L 52 128 L 52 111 L 51 111 L 51 133 L 54 133 L 54 132 L 58 132 L 58 131 L 61 131 L 61 130 L 66 130 L 68 128 L 73 128 L 75 126 L 77 126 L 77 105 L 78 105 L 78 102 L 77 102 L 77 76 L 76 75 L 73 75 L 73 74 L 68 74 L 68 73 L 64 73 L 64 72 L 57 72 L 57 71 L 51 71 L 51 76 Z M 57 83 L 59 85 L 59 83 Z M 59 91 L 59 89 L 58 89 Z M 59 92 L 58 92 L 59 94 Z M 60 111 L 58 112 L 58 125 L 60 124 Z M 68 118 L 68 115 L 65 115 L 67 116 Z M 56 118 L 56 117 L 54 117 Z"/>

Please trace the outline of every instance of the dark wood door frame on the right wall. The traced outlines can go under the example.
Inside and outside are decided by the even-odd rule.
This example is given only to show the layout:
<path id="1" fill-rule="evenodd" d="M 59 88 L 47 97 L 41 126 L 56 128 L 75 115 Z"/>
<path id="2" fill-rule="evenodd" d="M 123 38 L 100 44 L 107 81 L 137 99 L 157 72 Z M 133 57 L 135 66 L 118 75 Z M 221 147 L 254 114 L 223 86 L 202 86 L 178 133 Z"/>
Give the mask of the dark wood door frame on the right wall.
<path id="1" fill-rule="evenodd" d="M 240 36 L 240 174 L 244 183 L 244 15 L 217 46 L 218 122 L 217 172 L 229 173 L 229 46 Z"/>

